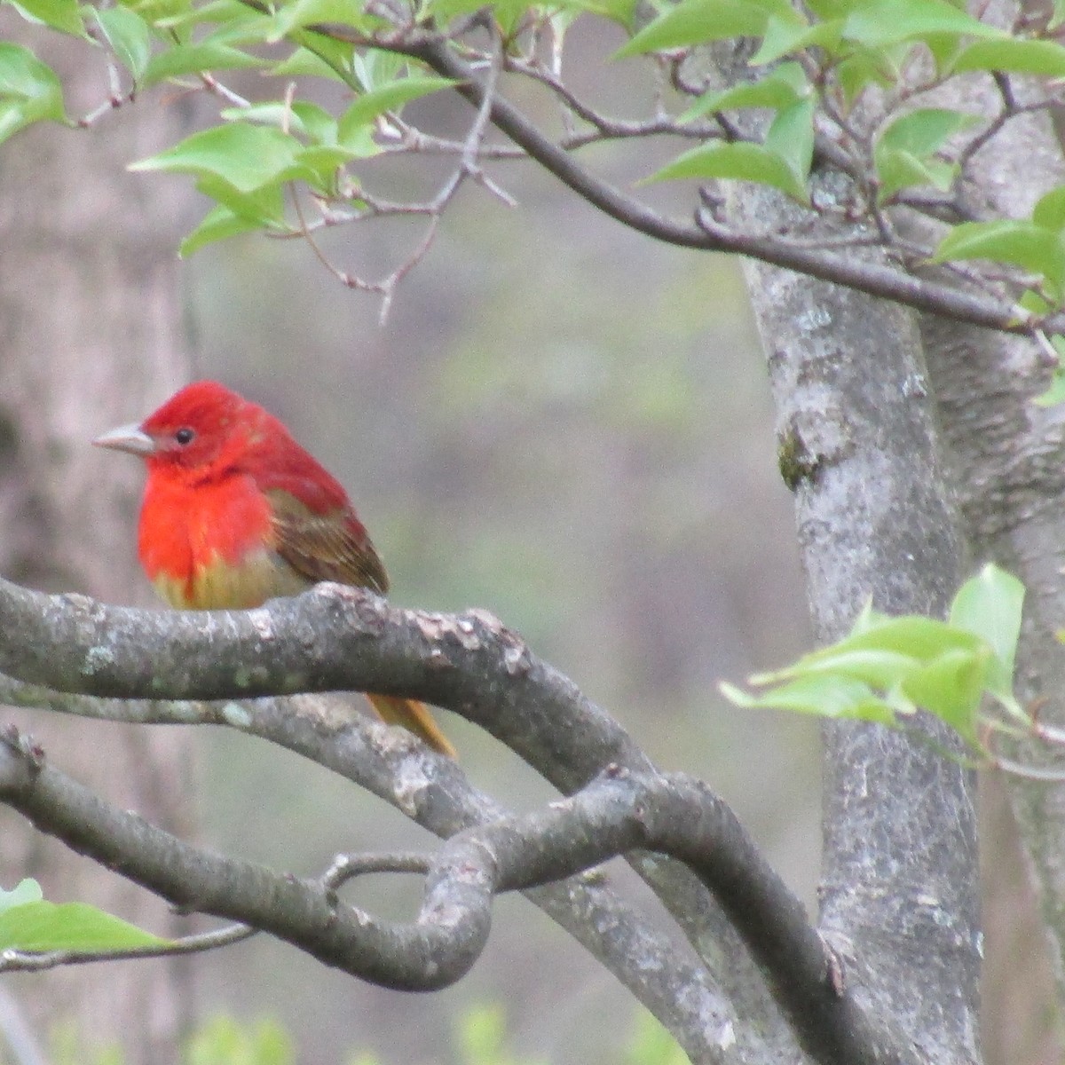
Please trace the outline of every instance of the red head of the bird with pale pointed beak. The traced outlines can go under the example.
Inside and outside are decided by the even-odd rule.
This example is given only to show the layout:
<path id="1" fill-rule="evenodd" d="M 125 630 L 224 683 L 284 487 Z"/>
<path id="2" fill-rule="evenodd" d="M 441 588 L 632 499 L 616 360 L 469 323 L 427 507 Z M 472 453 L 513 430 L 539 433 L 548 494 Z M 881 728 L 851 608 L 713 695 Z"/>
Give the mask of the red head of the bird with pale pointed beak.
<path id="1" fill-rule="evenodd" d="M 143 422 L 97 437 L 98 447 L 140 455 L 150 468 L 201 470 L 247 446 L 258 411 L 216 381 L 196 381 Z"/>

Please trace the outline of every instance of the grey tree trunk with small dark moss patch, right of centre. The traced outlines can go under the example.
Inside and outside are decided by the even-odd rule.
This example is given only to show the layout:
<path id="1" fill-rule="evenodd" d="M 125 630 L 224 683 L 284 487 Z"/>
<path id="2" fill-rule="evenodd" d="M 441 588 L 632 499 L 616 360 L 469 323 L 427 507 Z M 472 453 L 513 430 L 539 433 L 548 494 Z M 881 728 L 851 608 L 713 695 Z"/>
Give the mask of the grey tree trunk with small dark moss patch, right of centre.
<path id="1" fill-rule="evenodd" d="M 767 192 L 740 210 L 759 227 L 794 220 Z M 870 599 L 941 616 L 964 547 L 913 314 L 764 264 L 747 271 L 819 638 L 841 636 Z M 931 722 L 917 727 L 951 742 Z M 824 739 L 821 930 L 870 1010 L 930 1060 L 976 1062 L 972 775 L 879 726 L 834 724 Z"/>

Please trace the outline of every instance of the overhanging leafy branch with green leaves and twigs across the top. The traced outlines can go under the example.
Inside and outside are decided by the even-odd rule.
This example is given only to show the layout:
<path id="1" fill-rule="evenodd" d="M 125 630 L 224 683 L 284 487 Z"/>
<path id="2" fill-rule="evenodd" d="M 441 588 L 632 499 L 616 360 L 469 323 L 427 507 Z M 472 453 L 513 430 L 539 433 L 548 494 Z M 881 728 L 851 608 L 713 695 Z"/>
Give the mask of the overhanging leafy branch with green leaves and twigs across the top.
<path id="1" fill-rule="evenodd" d="M 184 253 L 259 231 L 309 241 L 328 266 L 317 229 L 426 216 L 422 245 L 386 282 L 330 266 L 345 284 L 387 299 L 428 249 L 459 182 L 473 178 L 510 202 L 482 164 L 529 154 L 596 207 L 661 240 L 838 275 L 840 283 L 981 325 L 1053 332 L 1065 321 L 1063 189 L 1047 189 L 1021 218 L 1001 217 L 969 195 L 974 160 L 995 150 L 1003 130 L 1060 102 L 1061 2 L 1042 14 L 1020 5 L 1011 27 L 950 0 L 2 2 L 36 32 L 83 40 L 110 91 L 91 114 L 71 118 L 54 71 L 24 44 L 0 42 L 0 142 L 42 120 L 94 126 L 116 106 L 161 98 L 152 91 L 163 84 L 218 101 L 209 129 L 134 164 L 189 175 L 213 201 Z M 563 78 L 567 33 L 578 18 L 624 34 L 607 62 L 658 71 L 645 117 L 616 118 Z M 708 64 L 722 48 L 730 61 Z M 509 102 L 517 81 L 554 99 L 562 133 L 517 111 Z M 968 95 L 982 102 L 945 106 L 941 91 L 954 82 L 979 89 Z M 422 129 L 405 111 L 447 89 L 478 109 L 465 138 Z M 489 122 L 509 141 L 486 138 Z M 646 180 L 771 186 L 803 206 L 808 235 L 799 244 L 787 233 L 752 233 L 705 189 L 694 224 L 661 218 L 575 161 L 591 144 L 650 137 L 671 138 L 677 150 Z M 386 152 L 449 154 L 455 175 L 424 202 L 391 202 L 367 189 L 365 164 Z M 846 177 L 846 192 L 838 183 L 830 195 L 821 190 L 824 167 Z M 934 224 L 927 245 L 900 235 L 907 211 Z M 840 225 L 849 235 L 839 235 Z M 938 264 L 946 286 L 915 292 L 891 271 L 872 278 L 848 271 L 829 257 L 841 242 L 879 246 L 900 277 L 915 264 Z"/>

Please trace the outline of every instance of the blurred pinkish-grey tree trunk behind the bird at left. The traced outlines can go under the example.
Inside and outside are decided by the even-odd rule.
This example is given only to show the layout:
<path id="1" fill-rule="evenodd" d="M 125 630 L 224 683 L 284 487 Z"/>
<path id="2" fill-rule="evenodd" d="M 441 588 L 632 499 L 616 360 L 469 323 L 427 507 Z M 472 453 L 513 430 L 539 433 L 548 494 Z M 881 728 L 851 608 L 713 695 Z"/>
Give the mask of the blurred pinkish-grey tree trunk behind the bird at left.
<path id="1" fill-rule="evenodd" d="M 0 24 L 14 29 L 11 12 Z M 6 33 L 4 34 L 6 36 Z M 75 42 L 49 43 L 69 99 L 91 106 L 99 83 Z M 187 116 L 130 112 L 109 137 L 29 130 L 4 146 L 0 165 L 0 570 L 52 591 L 78 590 L 148 604 L 129 551 L 140 484 L 134 470 L 104 475 L 85 448 L 99 417 L 171 391 L 190 372 L 186 311 L 174 242 L 193 214 L 177 184 L 149 193 L 126 162 L 182 135 Z M 84 722 L 31 722 L 79 776 L 175 831 L 192 823 L 191 737 Z M 62 885 L 131 920 L 179 932 L 185 921 L 144 891 L 85 863 L 2 815 L 4 882 L 22 875 Z M 60 1020 L 103 1043 L 128 1039 L 130 1062 L 170 1052 L 193 1011 L 190 958 L 116 969 L 29 977 L 21 1000 L 40 1032 Z M 7 1015 L 6 1012 L 4 1014 Z M 4 1059 L 6 1060 L 6 1059 Z"/>

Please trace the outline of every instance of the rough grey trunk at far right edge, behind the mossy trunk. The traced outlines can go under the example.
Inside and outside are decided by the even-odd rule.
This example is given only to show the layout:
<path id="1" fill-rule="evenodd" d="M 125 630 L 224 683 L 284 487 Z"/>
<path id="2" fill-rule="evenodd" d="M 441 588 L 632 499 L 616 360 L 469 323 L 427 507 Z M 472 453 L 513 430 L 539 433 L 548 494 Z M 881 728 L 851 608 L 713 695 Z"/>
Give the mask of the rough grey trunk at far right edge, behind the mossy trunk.
<path id="1" fill-rule="evenodd" d="M 988 80 L 949 87 L 948 105 L 994 105 Z M 1012 121 L 994 142 L 994 149 L 982 151 L 974 162 L 979 185 L 970 195 L 1004 216 L 1030 214 L 1038 196 L 1065 181 L 1061 147 L 1045 114 Z M 927 236 L 928 224 L 922 228 L 921 235 Z M 1016 573 L 1028 589 L 1017 695 L 1038 707 L 1045 720 L 1060 724 L 1065 721 L 1065 656 L 1056 638 L 1065 626 L 1065 408 L 1032 404 L 1048 380 L 1042 353 L 1031 341 L 931 315 L 922 316 L 919 325 L 968 540 L 978 559 L 995 559 Z M 1047 756 L 1036 744 L 1013 753 L 1032 764 Z M 1039 897 L 1060 1002 L 1065 994 L 1065 868 L 1061 863 L 1065 791 L 1017 779 L 1007 779 L 1005 784 L 1004 791 L 993 792 L 992 802 L 1000 803 L 1006 796 L 1016 824 L 1003 812 L 987 814 L 987 822 L 998 829 L 986 841 L 989 895 L 1001 900 L 987 915 L 989 949 L 1005 952 L 1013 940 L 1009 985 L 1001 985 L 1000 994 L 1009 995 L 1022 1014 L 1037 1018 L 1042 1033 L 1036 1030 L 1029 1041 L 1046 1044 L 1060 1039 L 1061 1032 L 1046 1021 L 1052 993 L 1047 987 L 1046 965 L 1032 957 L 1033 950 L 1041 948 L 1031 941 L 1018 944 L 1011 932 L 1018 913 L 1031 904 L 1030 892 L 1015 886 L 1012 895 L 1003 895 L 996 885 L 1017 879 L 1011 864 L 1017 854 L 1003 833 L 1019 828 L 1025 852 L 1020 874 L 1032 879 Z M 1017 964 L 1021 956 L 1022 964 Z M 996 997 L 988 996 L 993 1001 Z M 1015 1059 L 1019 1052 L 1014 1042 L 1010 1058 Z M 1060 1052 L 1060 1046 L 1043 1051 L 1048 1056 Z M 1041 1053 L 1033 1050 L 1033 1056 L 1023 1060 L 1039 1059 Z"/>

